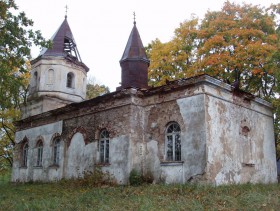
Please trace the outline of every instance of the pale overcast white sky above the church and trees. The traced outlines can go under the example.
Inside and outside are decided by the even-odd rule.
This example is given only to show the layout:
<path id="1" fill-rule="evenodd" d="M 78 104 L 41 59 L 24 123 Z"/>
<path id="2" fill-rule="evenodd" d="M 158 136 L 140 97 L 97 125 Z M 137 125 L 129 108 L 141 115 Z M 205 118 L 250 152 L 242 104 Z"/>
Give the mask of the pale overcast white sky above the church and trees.
<path id="1" fill-rule="evenodd" d="M 192 15 L 200 19 L 207 10 L 217 11 L 225 0 L 15 0 L 19 11 L 34 21 L 33 28 L 50 39 L 67 20 L 82 61 L 90 68 L 88 78 L 115 91 L 121 80 L 119 60 L 133 27 L 136 26 L 144 46 L 156 38 L 162 42 L 172 39 L 180 23 Z M 279 0 L 235 0 L 236 3 L 269 6 Z M 33 58 L 40 49 L 33 47 Z"/>

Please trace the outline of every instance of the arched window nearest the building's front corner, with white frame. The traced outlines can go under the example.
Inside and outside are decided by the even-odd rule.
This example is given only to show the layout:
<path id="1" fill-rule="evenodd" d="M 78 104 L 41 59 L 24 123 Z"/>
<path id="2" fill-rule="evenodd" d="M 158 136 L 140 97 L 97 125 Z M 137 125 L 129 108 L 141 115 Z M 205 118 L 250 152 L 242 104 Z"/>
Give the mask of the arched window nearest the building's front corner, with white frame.
<path id="1" fill-rule="evenodd" d="M 181 161 L 181 129 L 178 123 L 172 122 L 166 128 L 166 160 Z"/>

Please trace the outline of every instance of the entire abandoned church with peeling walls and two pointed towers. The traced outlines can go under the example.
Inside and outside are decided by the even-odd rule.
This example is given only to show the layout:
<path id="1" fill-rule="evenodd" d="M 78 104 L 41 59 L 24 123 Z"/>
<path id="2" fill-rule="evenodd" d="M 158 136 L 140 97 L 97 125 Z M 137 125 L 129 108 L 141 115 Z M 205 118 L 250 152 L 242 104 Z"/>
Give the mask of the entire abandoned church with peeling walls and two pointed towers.
<path id="1" fill-rule="evenodd" d="M 12 181 L 83 177 L 96 167 L 118 184 L 132 170 L 155 183 L 277 182 L 271 105 L 208 75 L 148 86 L 136 23 L 116 91 L 85 100 L 87 72 L 65 17 L 34 59 L 16 122 Z"/>

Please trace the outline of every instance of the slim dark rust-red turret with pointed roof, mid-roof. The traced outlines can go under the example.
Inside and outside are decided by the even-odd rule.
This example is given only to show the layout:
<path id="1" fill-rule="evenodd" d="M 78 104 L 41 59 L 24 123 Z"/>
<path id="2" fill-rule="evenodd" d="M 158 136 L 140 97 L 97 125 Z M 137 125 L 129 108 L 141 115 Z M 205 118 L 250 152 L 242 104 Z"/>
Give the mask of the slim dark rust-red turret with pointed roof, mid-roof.
<path id="1" fill-rule="evenodd" d="M 148 88 L 148 67 L 150 61 L 147 58 L 136 27 L 135 17 L 120 65 L 122 68 L 122 81 L 121 86 L 117 90 L 130 87 Z"/>

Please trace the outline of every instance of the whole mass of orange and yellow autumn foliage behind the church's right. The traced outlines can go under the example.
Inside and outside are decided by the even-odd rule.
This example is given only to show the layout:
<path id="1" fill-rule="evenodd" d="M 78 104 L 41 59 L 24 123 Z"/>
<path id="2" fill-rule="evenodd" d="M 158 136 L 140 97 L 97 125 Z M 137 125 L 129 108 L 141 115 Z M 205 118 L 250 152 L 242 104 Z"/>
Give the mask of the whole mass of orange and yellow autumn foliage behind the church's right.
<path id="1" fill-rule="evenodd" d="M 226 1 L 199 21 L 180 24 L 174 38 L 147 48 L 149 84 L 207 73 L 273 103 L 280 143 L 280 4 L 268 8 Z M 280 157 L 280 146 L 278 156 Z"/>

